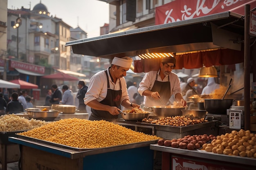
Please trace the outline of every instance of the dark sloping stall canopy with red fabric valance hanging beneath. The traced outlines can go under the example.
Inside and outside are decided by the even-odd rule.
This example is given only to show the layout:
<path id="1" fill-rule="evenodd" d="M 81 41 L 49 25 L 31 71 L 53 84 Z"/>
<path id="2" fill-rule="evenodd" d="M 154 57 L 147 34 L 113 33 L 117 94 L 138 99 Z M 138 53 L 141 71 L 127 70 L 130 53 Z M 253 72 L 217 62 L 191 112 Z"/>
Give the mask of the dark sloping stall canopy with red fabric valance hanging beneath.
<path id="1" fill-rule="evenodd" d="M 251 5 L 251 9 L 255 6 Z M 243 62 L 244 27 L 243 15 L 226 11 L 75 40 L 67 42 L 66 46 L 72 46 L 72 51 L 77 54 L 108 59 L 145 53 L 174 53 L 175 69 L 191 69 Z M 152 64 L 151 59 L 135 61 L 135 72 L 157 70 L 159 67 L 153 66 L 157 64 L 158 61 Z"/>

